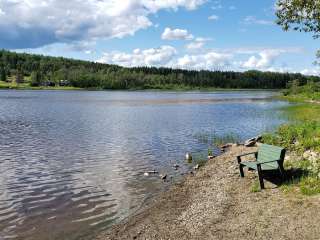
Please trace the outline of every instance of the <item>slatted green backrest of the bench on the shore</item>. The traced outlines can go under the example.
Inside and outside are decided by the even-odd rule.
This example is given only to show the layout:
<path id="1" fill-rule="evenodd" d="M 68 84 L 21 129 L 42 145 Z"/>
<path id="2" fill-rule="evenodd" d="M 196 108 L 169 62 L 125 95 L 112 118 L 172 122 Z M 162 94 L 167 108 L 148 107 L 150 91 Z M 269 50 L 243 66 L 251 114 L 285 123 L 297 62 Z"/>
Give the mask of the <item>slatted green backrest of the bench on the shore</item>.
<path id="1" fill-rule="evenodd" d="M 261 144 L 258 148 L 258 162 L 268 162 L 272 160 L 280 160 L 280 164 L 283 164 L 285 149 L 282 147 L 272 146 L 268 144 Z M 278 167 L 278 163 L 269 163 L 269 165 L 274 165 Z"/>

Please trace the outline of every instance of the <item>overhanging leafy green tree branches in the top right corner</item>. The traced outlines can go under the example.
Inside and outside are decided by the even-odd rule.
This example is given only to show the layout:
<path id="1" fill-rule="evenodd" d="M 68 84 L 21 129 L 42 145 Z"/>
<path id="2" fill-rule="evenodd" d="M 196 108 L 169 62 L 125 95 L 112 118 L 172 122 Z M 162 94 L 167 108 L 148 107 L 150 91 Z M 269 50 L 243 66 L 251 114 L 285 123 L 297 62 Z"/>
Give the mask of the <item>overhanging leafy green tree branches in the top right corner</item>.
<path id="1" fill-rule="evenodd" d="M 320 0 L 278 0 L 276 9 L 277 24 L 285 31 L 293 29 L 320 37 Z"/>

